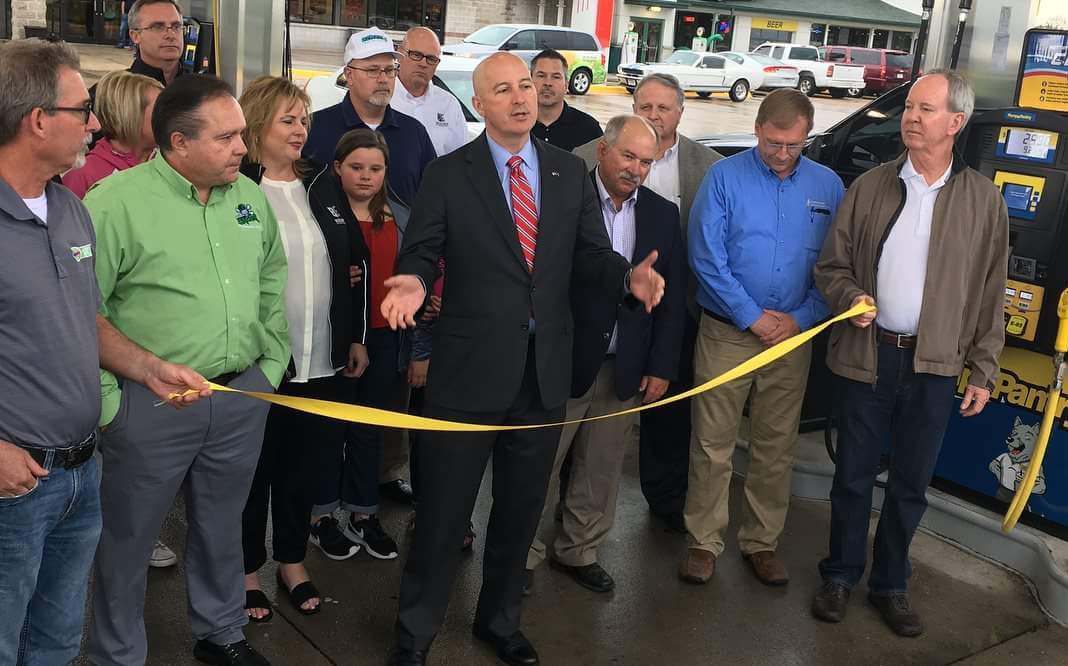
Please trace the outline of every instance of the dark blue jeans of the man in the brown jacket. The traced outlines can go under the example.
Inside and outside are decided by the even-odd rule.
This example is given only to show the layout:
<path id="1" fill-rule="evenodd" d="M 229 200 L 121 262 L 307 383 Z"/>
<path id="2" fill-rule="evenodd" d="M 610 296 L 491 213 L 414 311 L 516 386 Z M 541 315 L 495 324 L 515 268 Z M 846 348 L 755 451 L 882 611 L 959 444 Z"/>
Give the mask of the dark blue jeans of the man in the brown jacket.
<path id="1" fill-rule="evenodd" d="M 909 545 L 927 509 L 927 486 L 942 448 L 956 377 L 913 371 L 913 350 L 879 345 L 875 385 L 838 379 L 838 448 L 831 489 L 831 552 L 824 581 L 853 587 L 864 575 L 871 489 L 880 459 L 890 461 L 868 589 L 905 592 Z"/>

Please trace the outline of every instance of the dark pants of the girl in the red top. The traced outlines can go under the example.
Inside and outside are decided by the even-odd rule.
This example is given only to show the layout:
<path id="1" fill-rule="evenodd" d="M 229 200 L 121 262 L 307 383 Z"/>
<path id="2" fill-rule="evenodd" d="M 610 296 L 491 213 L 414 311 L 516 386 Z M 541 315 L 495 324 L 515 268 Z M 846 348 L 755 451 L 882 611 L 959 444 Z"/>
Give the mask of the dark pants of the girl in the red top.
<path id="1" fill-rule="evenodd" d="M 389 409 L 400 390 L 397 367 L 400 336 L 396 331 L 367 331 L 371 365 L 355 385 L 355 402 Z M 312 516 L 323 516 L 339 506 L 357 513 L 378 512 L 378 471 L 382 465 L 382 428 L 350 424 L 345 431 L 344 459 L 337 450 L 324 448 L 323 476 Z"/>

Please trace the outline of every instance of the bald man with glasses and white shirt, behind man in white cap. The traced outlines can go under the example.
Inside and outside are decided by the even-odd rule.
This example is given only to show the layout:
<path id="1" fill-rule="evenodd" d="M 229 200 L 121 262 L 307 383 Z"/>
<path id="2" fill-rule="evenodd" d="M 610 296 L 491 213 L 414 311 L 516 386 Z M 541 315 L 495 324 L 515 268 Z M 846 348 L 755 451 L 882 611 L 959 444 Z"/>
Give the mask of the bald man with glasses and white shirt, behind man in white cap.
<path id="1" fill-rule="evenodd" d="M 400 69 L 390 106 L 417 118 L 430 134 L 434 149 L 446 155 L 468 142 L 460 102 L 434 84 L 441 43 L 429 28 L 412 28 L 400 43 Z"/>

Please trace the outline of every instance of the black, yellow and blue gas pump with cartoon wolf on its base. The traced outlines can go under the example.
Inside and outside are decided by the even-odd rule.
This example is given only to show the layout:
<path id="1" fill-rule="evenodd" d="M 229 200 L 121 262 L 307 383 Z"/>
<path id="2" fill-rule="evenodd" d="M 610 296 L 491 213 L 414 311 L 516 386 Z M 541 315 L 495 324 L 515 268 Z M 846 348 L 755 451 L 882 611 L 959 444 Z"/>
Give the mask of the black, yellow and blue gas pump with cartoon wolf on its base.
<path id="1" fill-rule="evenodd" d="M 1016 90 L 1017 106 L 973 116 L 960 144 L 988 176 L 1009 213 L 1005 350 L 991 400 L 981 414 L 954 414 L 937 485 L 1004 511 L 1040 443 L 1051 388 L 1058 305 L 1068 286 L 1068 31 L 1030 30 Z M 1063 340 L 1062 340 L 1063 342 Z M 961 376 L 962 393 L 968 374 Z M 1055 405 L 1052 433 L 1024 522 L 1068 537 L 1068 415 Z M 1021 507 L 1022 508 L 1022 507 Z"/>

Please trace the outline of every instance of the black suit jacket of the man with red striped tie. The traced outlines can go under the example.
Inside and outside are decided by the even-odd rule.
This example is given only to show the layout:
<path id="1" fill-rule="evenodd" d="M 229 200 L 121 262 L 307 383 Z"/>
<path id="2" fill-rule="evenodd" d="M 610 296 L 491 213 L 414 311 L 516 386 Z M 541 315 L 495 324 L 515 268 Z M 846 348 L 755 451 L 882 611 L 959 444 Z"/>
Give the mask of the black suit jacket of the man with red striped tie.
<path id="1" fill-rule="evenodd" d="M 533 273 L 485 133 L 423 174 L 396 272 L 419 275 L 429 287 L 444 257 L 426 399 L 445 409 L 506 411 L 519 395 L 531 344 L 543 406 L 564 405 L 571 383 L 571 289 L 583 284 L 600 300 L 623 299 L 630 263 L 612 252 L 585 165 L 548 143 L 532 143 L 541 191 Z"/>

